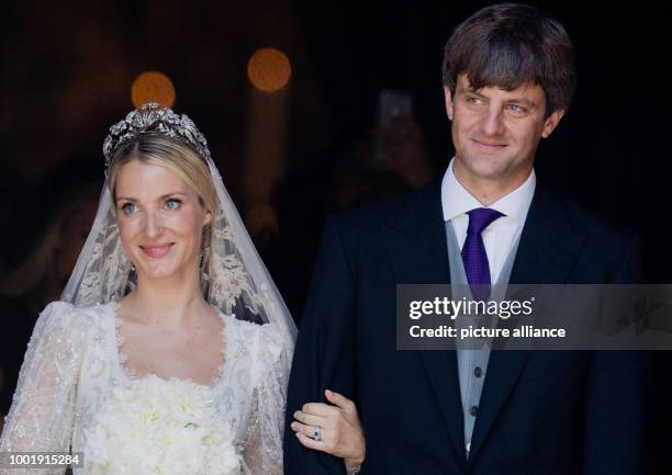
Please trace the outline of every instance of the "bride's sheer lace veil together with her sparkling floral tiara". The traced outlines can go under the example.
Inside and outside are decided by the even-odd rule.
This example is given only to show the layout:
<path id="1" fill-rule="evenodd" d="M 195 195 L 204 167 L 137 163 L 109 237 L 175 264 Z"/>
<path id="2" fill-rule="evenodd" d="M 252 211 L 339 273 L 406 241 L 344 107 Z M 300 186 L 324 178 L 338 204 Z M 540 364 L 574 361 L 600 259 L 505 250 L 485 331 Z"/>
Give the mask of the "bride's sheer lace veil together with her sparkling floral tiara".
<path id="1" fill-rule="evenodd" d="M 201 286 L 213 306 L 237 318 L 255 315 L 257 323 L 275 324 L 278 340 L 291 355 L 296 327 L 259 258 L 208 149 L 205 137 L 187 115 L 156 103 L 144 104 L 110 128 L 103 145 L 105 165 L 114 150 L 152 131 L 180 140 L 205 160 L 214 183 L 217 206 L 211 223 L 210 246 L 203 250 Z M 61 301 L 89 306 L 119 299 L 134 285 L 132 264 L 124 255 L 108 182 L 103 185 L 93 226 L 79 255 Z M 245 312 L 247 308 L 249 312 Z M 287 369 L 289 373 L 289 369 Z"/>

